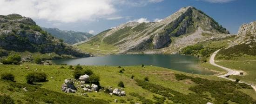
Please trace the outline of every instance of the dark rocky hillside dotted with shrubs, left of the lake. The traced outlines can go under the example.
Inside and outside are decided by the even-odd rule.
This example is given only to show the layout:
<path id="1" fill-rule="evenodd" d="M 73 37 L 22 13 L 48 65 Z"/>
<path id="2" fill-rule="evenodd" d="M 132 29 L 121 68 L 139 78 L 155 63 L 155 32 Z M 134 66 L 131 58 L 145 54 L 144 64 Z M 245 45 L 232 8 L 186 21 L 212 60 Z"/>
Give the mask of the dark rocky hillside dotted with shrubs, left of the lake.
<path id="1" fill-rule="evenodd" d="M 6 56 L 9 52 L 55 53 L 72 57 L 89 56 L 54 38 L 37 26 L 32 19 L 19 14 L 0 15 L 0 53 L 2 53 L 1 56 Z"/>

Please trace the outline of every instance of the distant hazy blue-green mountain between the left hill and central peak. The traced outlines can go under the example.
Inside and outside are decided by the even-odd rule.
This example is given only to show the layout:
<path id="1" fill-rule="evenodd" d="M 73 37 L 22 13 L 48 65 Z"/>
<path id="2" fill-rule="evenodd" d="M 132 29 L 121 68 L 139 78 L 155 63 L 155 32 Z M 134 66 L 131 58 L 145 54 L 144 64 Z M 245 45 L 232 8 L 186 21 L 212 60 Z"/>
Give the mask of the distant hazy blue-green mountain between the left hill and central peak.
<path id="1" fill-rule="evenodd" d="M 58 39 L 63 39 L 64 42 L 73 45 L 75 43 L 85 41 L 93 36 L 88 32 L 74 32 L 74 31 L 64 31 L 58 28 L 44 28 L 42 29 L 48 33 L 51 33 L 54 37 Z"/>

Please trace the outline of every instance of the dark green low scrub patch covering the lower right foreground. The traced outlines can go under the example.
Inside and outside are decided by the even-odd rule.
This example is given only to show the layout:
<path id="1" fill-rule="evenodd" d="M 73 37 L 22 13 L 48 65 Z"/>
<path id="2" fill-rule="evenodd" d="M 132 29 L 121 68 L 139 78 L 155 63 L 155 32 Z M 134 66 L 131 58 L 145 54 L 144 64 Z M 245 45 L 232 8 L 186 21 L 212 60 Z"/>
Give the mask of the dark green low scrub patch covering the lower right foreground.
<path id="1" fill-rule="evenodd" d="M 194 83 L 198 84 L 190 87 L 189 90 L 195 93 L 188 95 L 179 93 L 172 89 L 163 87 L 158 84 L 151 84 L 146 81 L 136 79 L 138 85 L 143 89 L 147 89 L 155 94 L 160 94 L 167 97 L 174 103 L 181 104 L 206 104 L 207 102 L 214 101 L 214 104 L 225 104 L 228 101 L 236 102 L 238 104 L 254 104 L 256 100 L 249 97 L 241 91 L 234 91 L 235 89 L 247 88 L 252 89 L 247 84 L 234 83 L 229 81 L 213 81 L 203 78 L 194 78 L 186 75 L 175 74 L 177 80 L 191 79 Z M 209 92 L 211 95 L 207 96 L 204 93 Z M 229 94 L 226 94 L 229 93 Z M 239 97 L 239 98 L 237 98 Z"/>

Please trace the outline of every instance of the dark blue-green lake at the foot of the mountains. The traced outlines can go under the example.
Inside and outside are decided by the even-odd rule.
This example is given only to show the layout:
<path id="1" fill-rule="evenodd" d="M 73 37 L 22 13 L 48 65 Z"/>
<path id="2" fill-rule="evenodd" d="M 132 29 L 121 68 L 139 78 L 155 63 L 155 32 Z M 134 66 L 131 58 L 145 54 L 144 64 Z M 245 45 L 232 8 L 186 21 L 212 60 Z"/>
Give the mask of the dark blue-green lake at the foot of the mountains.
<path id="1" fill-rule="evenodd" d="M 198 68 L 200 59 L 193 56 L 184 55 L 164 55 L 164 54 L 127 54 L 110 55 L 89 58 L 73 58 L 53 60 L 54 64 L 67 65 L 108 65 L 108 66 L 129 66 L 129 65 L 154 65 L 165 67 L 177 71 L 195 74 L 210 75 L 215 74 L 209 70 Z"/>

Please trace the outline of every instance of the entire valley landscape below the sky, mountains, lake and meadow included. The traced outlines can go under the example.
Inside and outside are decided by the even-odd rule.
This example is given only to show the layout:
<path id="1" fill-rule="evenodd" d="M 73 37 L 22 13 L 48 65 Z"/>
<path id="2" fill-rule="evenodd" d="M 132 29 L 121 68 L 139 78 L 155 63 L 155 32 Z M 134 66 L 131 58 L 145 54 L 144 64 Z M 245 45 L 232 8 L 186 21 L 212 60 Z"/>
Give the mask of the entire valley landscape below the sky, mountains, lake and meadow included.
<path id="1" fill-rule="evenodd" d="M 91 33 L 0 15 L 0 104 L 256 104 L 256 21 L 189 6 Z"/>

